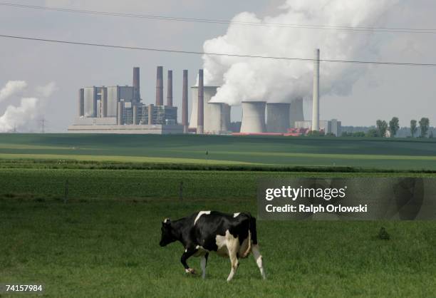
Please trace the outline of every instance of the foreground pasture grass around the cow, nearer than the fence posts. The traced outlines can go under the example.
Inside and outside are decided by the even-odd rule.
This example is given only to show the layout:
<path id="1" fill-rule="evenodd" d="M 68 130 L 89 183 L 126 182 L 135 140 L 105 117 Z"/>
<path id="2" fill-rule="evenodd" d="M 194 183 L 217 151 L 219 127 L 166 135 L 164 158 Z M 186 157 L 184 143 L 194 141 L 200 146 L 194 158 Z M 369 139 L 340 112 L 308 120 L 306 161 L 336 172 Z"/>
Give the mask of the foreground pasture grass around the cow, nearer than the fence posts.
<path id="1" fill-rule="evenodd" d="M 195 210 L 256 212 L 254 200 L 0 200 L 2 282 L 40 282 L 49 297 L 433 297 L 435 222 L 264 222 L 268 279 L 209 257 L 188 277 L 182 245 L 161 248 L 160 221 Z M 18 200 L 18 201 L 17 201 Z M 390 240 L 378 240 L 380 226 Z M 199 270 L 199 260 L 188 263 Z"/>

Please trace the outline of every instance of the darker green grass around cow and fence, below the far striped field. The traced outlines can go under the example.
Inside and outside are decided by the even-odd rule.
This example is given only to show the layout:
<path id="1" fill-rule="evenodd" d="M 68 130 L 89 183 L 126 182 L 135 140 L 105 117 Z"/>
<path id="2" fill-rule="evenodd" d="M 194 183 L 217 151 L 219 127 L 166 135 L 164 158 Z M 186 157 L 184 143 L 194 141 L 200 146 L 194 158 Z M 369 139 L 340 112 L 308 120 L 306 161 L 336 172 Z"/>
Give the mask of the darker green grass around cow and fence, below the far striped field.
<path id="1" fill-rule="evenodd" d="M 433 297 L 436 222 L 259 221 L 268 279 L 250 256 L 230 284 L 229 260 L 211 255 L 202 280 L 185 275 L 180 244 L 158 245 L 165 217 L 256 214 L 259 178 L 368 175 L 405 174 L 0 168 L 0 282 L 43 283 L 48 297 Z"/>

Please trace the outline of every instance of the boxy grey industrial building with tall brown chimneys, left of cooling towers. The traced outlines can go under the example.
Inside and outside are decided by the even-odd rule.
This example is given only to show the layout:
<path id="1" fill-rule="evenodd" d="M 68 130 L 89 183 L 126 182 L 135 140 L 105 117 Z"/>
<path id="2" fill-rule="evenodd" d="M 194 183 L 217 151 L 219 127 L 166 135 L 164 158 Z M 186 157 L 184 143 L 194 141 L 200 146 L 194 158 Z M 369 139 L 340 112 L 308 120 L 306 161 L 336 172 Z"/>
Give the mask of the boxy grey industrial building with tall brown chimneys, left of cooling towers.
<path id="1" fill-rule="evenodd" d="M 167 105 L 163 104 L 163 68 L 157 66 L 156 104 L 140 97 L 140 68 L 133 68 L 133 86 L 85 87 L 79 90 L 78 118 L 70 133 L 183 133 L 172 106 L 172 71 L 168 71 Z"/>

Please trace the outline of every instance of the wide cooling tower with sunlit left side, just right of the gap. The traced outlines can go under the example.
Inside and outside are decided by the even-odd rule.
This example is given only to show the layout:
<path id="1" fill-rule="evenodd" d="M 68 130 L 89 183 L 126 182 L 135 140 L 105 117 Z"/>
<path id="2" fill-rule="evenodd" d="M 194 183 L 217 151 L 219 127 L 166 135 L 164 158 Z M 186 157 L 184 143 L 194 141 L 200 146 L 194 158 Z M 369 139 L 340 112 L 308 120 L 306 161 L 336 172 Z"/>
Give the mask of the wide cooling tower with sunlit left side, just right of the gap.
<path id="1" fill-rule="evenodd" d="M 265 133 L 265 101 L 242 101 L 241 133 Z"/>

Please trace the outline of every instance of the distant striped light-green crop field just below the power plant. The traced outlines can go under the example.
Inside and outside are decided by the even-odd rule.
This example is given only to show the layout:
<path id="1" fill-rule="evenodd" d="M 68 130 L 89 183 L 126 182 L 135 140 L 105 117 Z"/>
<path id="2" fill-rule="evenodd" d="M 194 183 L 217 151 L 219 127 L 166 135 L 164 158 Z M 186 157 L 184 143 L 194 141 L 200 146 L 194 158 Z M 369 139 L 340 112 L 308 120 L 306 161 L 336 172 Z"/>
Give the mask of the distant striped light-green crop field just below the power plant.
<path id="1" fill-rule="evenodd" d="M 225 135 L 0 134 L 0 158 L 436 170 L 436 141 Z"/>

